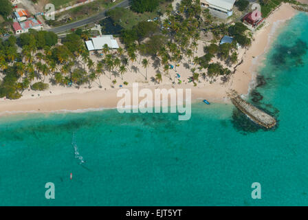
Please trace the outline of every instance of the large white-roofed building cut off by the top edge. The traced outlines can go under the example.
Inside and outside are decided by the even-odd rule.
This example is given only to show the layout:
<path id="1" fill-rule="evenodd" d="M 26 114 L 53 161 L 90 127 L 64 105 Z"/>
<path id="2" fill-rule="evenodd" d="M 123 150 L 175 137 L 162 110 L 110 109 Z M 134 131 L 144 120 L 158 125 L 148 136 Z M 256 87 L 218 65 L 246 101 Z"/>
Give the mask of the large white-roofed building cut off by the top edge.
<path id="1" fill-rule="evenodd" d="M 216 10 L 231 16 L 235 0 L 200 0 L 201 6 L 209 10 Z"/>

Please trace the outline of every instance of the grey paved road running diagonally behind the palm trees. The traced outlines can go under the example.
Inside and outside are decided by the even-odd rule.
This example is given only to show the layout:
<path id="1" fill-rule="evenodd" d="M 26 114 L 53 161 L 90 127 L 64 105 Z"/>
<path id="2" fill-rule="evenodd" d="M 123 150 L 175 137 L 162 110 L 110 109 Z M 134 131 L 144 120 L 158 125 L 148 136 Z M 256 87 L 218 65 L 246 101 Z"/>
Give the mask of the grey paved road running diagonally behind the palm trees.
<path id="1" fill-rule="evenodd" d="M 72 30 L 72 28 L 78 28 L 78 27 L 81 27 L 83 25 L 87 25 L 89 23 L 95 23 L 97 21 L 100 21 L 100 20 L 104 19 L 106 17 L 106 12 L 108 10 L 111 10 L 113 8 L 127 8 L 127 7 L 129 7 L 129 0 L 124 0 L 121 3 L 118 3 L 118 5 L 114 5 L 113 7 L 109 8 L 107 10 L 104 10 L 104 11 L 100 12 L 100 14 L 97 14 L 97 15 L 95 15 L 93 17 L 89 17 L 87 19 L 76 21 L 74 23 L 69 23 L 67 25 L 63 25 L 63 26 L 60 26 L 60 27 L 57 27 L 57 28 L 52 28 L 52 29 L 50 29 L 48 31 L 54 32 L 54 33 L 58 34 L 60 32 L 65 32 L 67 30 Z"/>

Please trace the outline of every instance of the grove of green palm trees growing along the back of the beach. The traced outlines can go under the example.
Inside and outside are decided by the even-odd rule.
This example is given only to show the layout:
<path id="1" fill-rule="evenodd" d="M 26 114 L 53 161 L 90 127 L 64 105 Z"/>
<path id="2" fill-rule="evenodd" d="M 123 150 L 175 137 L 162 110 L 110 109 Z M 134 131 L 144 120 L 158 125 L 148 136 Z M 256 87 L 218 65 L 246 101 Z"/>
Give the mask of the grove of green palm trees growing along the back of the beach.
<path id="1" fill-rule="evenodd" d="M 118 10 L 128 9 L 116 8 L 109 12 L 111 19 L 119 13 Z M 135 62 L 144 67 L 145 80 L 148 80 L 148 66 L 153 63 L 157 74 L 151 80 L 156 83 L 162 82 L 162 74 L 173 80 L 169 72 L 170 63 L 186 62 L 192 83 L 197 85 L 200 72 L 204 79 L 230 74 L 230 70 L 223 68 L 221 63 L 210 63 L 214 56 L 230 65 L 237 61 L 236 43 L 243 47 L 250 45 L 244 25 L 214 24 L 210 14 L 201 10 L 199 0 L 182 0 L 178 12 L 174 12 L 169 5 L 166 14 L 167 19 L 162 24 L 159 21 L 141 21 L 129 30 L 123 30 L 120 39 L 125 48 L 120 47 L 116 53 L 112 53 L 104 45 L 104 56 L 95 52 L 98 57 L 96 63 L 89 58 L 85 48 L 84 40 L 89 39 L 87 31 L 76 30 L 67 34 L 61 43 L 58 43 L 56 34 L 45 31 L 31 30 L 21 34 L 19 39 L 10 36 L 8 40 L 0 42 L 0 97 L 17 99 L 25 89 L 44 90 L 49 84 L 75 87 L 86 84 L 91 87 L 96 83 L 102 87 L 102 75 L 115 84 L 117 77 L 123 80 L 126 72 L 132 72 Z M 204 48 L 205 55 L 197 57 L 195 54 L 201 31 L 212 32 L 216 41 L 224 34 L 230 34 L 234 36 L 234 42 L 217 45 L 213 41 Z M 17 46 L 21 52 L 18 52 Z M 49 82 L 45 83 L 46 80 Z"/>

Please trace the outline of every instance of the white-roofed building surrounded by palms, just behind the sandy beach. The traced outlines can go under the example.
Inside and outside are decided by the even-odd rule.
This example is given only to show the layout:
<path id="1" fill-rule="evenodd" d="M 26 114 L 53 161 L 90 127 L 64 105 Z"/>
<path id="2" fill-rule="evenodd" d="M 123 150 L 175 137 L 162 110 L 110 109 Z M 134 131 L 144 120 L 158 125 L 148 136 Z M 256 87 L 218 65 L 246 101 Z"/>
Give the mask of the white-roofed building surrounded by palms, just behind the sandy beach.
<path id="1" fill-rule="evenodd" d="M 85 44 L 87 45 L 87 49 L 89 51 L 102 50 L 105 44 L 108 45 L 109 49 L 119 48 L 118 42 L 115 39 L 113 39 L 112 35 L 94 37 L 91 39 L 91 41 L 86 41 Z"/>

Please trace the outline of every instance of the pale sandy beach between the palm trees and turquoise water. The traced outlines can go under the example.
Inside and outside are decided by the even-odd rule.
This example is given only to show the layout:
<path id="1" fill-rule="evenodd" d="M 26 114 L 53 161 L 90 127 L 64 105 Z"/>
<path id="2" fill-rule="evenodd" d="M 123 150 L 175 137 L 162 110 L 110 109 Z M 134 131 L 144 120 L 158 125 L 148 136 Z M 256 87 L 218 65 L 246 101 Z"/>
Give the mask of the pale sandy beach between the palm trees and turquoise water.
<path id="1" fill-rule="evenodd" d="M 280 8 L 277 8 L 274 13 L 267 18 L 266 24 L 254 33 L 254 41 L 252 46 L 247 50 L 239 52 L 243 54 L 239 57 L 239 61 L 243 58 L 243 63 L 236 68 L 235 74 L 233 74 L 230 81 L 225 84 L 221 84 L 220 80 L 214 83 L 208 83 L 203 79 L 200 79 L 200 83 L 197 83 L 197 87 L 193 87 L 192 83 L 183 83 L 182 85 L 175 85 L 175 88 L 191 89 L 192 100 L 199 100 L 206 98 L 210 102 L 229 102 L 226 98 L 226 91 L 229 89 L 235 89 L 239 94 L 248 94 L 250 86 L 254 82 L 256 76 L 256 69 L 261 65 L 263 61 L 263 55 L 270 48 L 270 44 L 277 35 L 278 28 L 281 27 L 285 21 L 291 19 L 296 14 L 291 5 L 283 4 Z M 203 55 L 203 43 L 199 42 L 199 48 L 197 56 Z M 142 65 L 136 62 L 135 66 L 140 71 L 143 71 Z M 188 78 L 191 73 L 184 67 L 177 67 L 177 72 L 181 74 L 182 79 Z M 133 82 L 140 83 L 141 87 L 147 87 L 149 89 L 170 89 L 172 86 L 172 80 L 168 80 L 167 76 L 164 76 L 162 83 L 155 84 L 153 82 L 144 82 L 144 76 L 142 72 L 126 73 L 124 80 L 129 82 L 129 87 Z M 170 74 L 175 75 L 176 72 L 170 71 Z M 148 78 L 155 76 L 155 69 L 148 69 Z M 111 85 L 111 80 L 114 78 L 107 78 L 102 76 L 102 82 L 104 85 Z M 201 77 L 200 77 L 201 78 Z M 117 80 L 120 81 L 118 77 Z M 123 80 L 123 81 L 124 81 Z M 185 80 L 183 80 L 185 82 Z M 97 84 L 97 83 L 96 83 Z M 122 82 L 115 84 L 115 88 L 119 88 Z M 23 97 L 19 100 L 0 100 L 0 115 L 11 113 L 25 113 L 25 112 L 48 112 L 48 111 L 76 111 L 81 109 L 109 109 L 115 108 L 118 100 L 116 94 L 118 89 L 111 89 L 111 87 L 102 87 L 100 89 L 98 85 L 93 85 L 91 89 L 86 87 L 65 88 L 60 86 L 51 87 L 47 91 L 25 91 Z"/>

